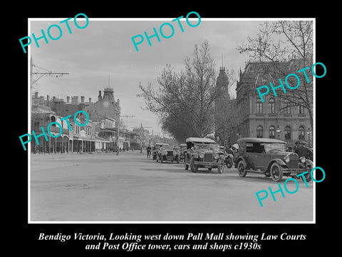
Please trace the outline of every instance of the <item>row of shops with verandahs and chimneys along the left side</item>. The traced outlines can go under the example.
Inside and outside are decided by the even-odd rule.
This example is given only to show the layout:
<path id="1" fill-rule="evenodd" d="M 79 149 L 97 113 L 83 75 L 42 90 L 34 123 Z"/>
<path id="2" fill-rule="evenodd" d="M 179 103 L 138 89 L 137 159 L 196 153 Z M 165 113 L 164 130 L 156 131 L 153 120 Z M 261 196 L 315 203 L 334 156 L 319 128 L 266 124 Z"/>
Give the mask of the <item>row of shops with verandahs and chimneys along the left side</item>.
<path id="1" fill-rule="evenodd" d="M 104 90 L 103 96 L 99 91 L 98 101 L 93 103 L 91 99 L 85 102 L 85 97 L 67 96 L 64 99 L 57 99 L 53 96 L 38 96 L 36 92 L 32 98 L 31 106 L 31 129 L 38 136 L 38 143 L 32 136 L 31 151 L 33 153 L 86 153 L 86 152 L 110 152 L 119 150 L 127 150 L 129 148 L 140 149 L 140 134 L 129 131 L 128 129 L 119 129 L 118 124 L 120 117 L 120 101 L 114 100 L 113 89 Z M 78 111 L 86 111 L 88 114 L 88 124 L 84 124 L 86 117 L 78 115 L 74 121 L 74 115 Z M 71 115 L 68 119 L 69 126 L 64 117 Z M 61 124 L 62 131 L 59 126 L 53 124 L 47 127 L 51 122 Z M 42 127 L 44 131 L 42 130 Z M 61 135 L 57 136 L 58 133 Z M 144 134 L 145 135 L 145 134 Z M 145 139 L 145 136 L 143 136 Z M 47 139 L 46 139 L 47 138 Z"/>

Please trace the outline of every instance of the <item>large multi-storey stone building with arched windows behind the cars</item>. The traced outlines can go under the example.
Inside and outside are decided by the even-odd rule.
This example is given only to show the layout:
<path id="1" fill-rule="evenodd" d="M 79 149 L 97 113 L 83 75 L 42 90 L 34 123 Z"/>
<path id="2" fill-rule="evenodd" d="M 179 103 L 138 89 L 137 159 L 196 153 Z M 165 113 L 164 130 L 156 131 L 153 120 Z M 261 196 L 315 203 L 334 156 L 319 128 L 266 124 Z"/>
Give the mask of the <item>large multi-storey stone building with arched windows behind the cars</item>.
<path id="1" fill-rule="evenodd" d="M 262 102 L 257 92 L 259 86 L 269 86 L 270 82 L 278 86 L 279 79 L 284 81 L 287 74 L 299 70 L 296 68 L 300 66 L 298 64 L 298 60 L 277 62 L 276 66 L 271 62 L 249 62 L 244 72 L 240 70 L 236 89 L 237 99 L 234 99 L 236 109 L 231 110 L 237 113 L 239 122 L 229 130 L 229 143 L 236 142 L 237 138 L 259 137 L 277 138 L 286 141 L 288 146 L 292 146 L 295 141 L 306 141 L 310 147 L 313 145 L 308 109 L 299 102 L 296 104 L 284 97 L 275 97 L 271 89 L 270 94 L 264 96 Z M 279 70 L 282 73 L 279 73 Z M 307 88 L 309 99 L 312 99 L 312 82 L 310 83 Z M 281 92 L 281 89 L 276 91 Z M 291 96 L 293 92 L 287 89 L 286 94 Z"/>

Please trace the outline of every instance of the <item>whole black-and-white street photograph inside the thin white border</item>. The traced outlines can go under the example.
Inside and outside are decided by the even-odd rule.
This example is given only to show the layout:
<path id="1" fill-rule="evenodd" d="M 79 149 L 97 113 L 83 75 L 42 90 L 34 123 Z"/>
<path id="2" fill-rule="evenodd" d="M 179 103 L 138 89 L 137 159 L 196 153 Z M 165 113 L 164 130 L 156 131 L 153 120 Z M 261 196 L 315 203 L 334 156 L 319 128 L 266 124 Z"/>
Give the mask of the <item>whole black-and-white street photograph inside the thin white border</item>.
<path id="1" fill-rule="evenodd" d="M 314 221 L 314 19 L 79 17 L 28 48 L 30 221 Z"/>

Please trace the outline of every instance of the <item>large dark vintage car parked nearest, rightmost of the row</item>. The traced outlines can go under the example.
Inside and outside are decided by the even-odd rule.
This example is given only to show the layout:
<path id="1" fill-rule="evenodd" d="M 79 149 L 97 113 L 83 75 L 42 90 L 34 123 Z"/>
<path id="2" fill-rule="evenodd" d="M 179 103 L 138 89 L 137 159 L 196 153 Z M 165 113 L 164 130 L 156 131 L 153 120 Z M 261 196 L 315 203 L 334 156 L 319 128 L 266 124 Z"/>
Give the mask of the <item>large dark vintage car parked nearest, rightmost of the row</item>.
<path id="1" fill-rule="evenodd" d="M 240 138 L 239 157 L 235 162 L 235 168 L 239 176 L 246 176 L 247 172 L 264 173 L 273 181 L 281 181 L 283 176 L 296 177 L 297 174 L 308 171 L 305 174 L 306 181 L 311 180 L 310 171 L 314 163 L 305 157 L 299 158 L 298 154 L 286 151 L 286 142 L 273 138 Z"/>

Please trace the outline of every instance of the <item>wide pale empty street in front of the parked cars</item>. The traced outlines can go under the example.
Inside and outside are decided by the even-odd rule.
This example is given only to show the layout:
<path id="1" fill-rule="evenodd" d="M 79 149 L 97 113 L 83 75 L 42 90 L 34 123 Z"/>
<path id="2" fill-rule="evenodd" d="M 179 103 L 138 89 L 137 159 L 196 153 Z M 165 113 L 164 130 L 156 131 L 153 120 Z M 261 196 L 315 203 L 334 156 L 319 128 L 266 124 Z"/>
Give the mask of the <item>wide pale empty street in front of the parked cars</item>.
<path id="1" fill-rule="evenodd" d="M 192 173 L 140 151 L 31 154 L 30 182 L 31 221 L 313 221 L 312 181 L 306 188 L 298 180 L 299 191 L 276 193 L 276 201 L 269 193 L 261 207 L 257 191 L 279 190 L 264 175 Z"/>

